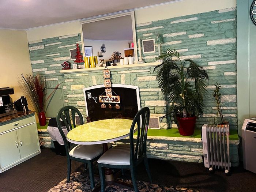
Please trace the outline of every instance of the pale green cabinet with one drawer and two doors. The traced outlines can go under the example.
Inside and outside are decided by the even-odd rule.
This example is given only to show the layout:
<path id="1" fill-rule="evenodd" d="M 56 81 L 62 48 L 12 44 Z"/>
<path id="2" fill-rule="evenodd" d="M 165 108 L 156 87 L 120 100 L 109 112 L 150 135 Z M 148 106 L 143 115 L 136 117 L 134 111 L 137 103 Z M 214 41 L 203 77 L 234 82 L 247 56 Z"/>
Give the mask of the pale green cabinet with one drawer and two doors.
<path id="1" fill-rule="evenodd" d="M 34 114 L 0 124 L 0 173 L 39 153 Z"/>

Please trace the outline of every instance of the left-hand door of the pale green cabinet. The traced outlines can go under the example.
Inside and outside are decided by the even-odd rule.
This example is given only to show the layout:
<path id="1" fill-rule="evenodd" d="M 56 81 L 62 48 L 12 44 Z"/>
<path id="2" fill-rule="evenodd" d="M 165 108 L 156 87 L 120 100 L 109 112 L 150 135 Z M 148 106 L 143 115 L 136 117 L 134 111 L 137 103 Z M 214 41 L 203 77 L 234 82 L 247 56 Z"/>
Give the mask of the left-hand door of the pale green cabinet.
<path id="1" fill-rule="evenodd" d="M 20 159 L 16 130 L 0 135 L 0 167 L 3 168 Z"/>

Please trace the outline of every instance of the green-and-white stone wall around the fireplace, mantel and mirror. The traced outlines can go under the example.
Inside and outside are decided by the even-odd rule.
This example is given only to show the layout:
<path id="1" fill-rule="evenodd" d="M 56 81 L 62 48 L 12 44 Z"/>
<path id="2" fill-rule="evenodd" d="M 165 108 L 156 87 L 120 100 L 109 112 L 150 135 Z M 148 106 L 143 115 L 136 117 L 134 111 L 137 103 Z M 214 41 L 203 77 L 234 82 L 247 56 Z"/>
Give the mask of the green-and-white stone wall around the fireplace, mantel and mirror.
<path id="1" fill-rule="evenodd" d="M 153 13 L 158 14 L 158 13 Z M 182 16 L 136 25 L 137 38 L 155 38 L 163 35 L 161 49 L 177 49 L 183 59 L 192 59 L 205 67 L 209 75 L 208 93 L 205 95 L 204 116 L 197 120 L 203 124 L 219 123 L 215 116 L 214 84 L 222 84 L 222 110 L 230 121 L 230 128 L 237 129 L 237 77 L 236 77 L 236 10 L 234 8 Z M 86 116 L 83 88 L 103 84 L 102 71 L 84 71 L 61 74 L 61 64 L 70 61 L 69 49 L 81 48 L 80 34 L 72 34 L 29 42 L 33 73 L 44 74 L 49 87 L 63 82 L 65 102 L 76 106 Z M 143 59 L 153 62 L 156 53 L 143 54 Z M 72 62 L 71 62 L 72 63 Z M 149 106 L 153 116 L 165 113 L 164 98 L 159 90 L 154 67 L 112 69 L 112 83 L 139 86 L 141 106 Z M 166 123 L 161 123 L 166 128 Z"/>

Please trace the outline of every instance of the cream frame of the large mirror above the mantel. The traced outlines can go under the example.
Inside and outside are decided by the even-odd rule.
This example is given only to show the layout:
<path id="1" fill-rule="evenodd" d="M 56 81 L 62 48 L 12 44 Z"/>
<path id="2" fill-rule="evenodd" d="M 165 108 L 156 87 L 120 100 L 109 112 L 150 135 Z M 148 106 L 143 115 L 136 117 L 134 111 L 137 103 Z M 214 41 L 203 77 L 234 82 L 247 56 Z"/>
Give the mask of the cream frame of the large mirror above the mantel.
<path id="1" fill-rule="evenodd" d="M 80 30 L 81 30 L 81 41 L 82 41 L 83 56 L 85 55 L 85 53 L 84 53 L 83 28 L 82 28 L 82 25 L 84 23 L 91 23 L 91 22 L 96 22 L 96 21 L 111 19 L 111 18 L 117 18 L 117 17 L 127 16 L 127 15 L 131 15 L 131 19 L 132 19 L 132 35 L 133 35 L 133 43 L 134 43 L 134 60 L 135 60 L 134 63 L 136 64 L 137 61 L 138 61 L 138 48 L 137 48 L 134 11 L 117 13 L 117 14 L 113 13 L 113 14 L 109 14 L 107 16 L 96 16 L 96 17 L 93 17 L 93 18 L 87 18 L 87 19 L 82 20 L 80 22 Z"/>

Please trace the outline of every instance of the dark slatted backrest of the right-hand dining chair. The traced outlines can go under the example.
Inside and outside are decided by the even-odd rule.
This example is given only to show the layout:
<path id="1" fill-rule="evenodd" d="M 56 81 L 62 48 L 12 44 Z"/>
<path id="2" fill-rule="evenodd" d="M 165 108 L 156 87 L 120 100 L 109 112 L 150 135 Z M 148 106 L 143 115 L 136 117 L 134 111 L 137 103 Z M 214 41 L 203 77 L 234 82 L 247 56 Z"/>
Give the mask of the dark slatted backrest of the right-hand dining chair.
<path id="1" fill-rule="evenodd" d="M 150 117 L 150 110 L 144 107 L 138 111 L 133 118 L 130 129 L 130 165 L 135 165 L 136 162 L 146 157 L 147 151 L 147 131 Z M 133 132 L 137 128 L 137 139 L 134 146 Z"/>

